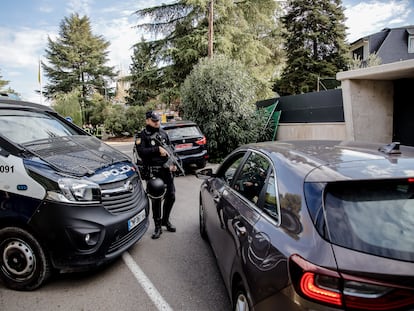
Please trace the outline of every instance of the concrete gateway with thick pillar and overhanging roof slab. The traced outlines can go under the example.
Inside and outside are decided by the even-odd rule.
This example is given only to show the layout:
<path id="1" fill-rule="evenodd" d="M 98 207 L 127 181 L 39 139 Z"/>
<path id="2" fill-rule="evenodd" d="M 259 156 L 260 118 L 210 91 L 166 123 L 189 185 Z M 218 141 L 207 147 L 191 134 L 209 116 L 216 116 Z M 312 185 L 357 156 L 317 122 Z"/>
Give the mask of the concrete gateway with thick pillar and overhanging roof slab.
<path id="1" fill-rule="evenodd" d="M 336 78 L 342 85 L 347 139 L 390 143 L 394 81 L 414 78 L 414 60 L 338 72 Z"/>

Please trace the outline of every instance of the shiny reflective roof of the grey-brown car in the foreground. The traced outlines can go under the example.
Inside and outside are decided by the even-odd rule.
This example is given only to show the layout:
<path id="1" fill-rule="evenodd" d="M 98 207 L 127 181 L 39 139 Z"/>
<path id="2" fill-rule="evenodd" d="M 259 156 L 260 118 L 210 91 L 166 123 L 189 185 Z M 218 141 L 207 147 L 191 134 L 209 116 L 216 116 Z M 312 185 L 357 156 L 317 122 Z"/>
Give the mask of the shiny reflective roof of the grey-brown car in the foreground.
<path id="1" fill-rule="evenodd" d="M 400 146 L 400 153 L 380 151 L 386 144 L 335 140 L 263 142 L 241 148 L 246 147 L 283 162 L 308 182 L 414 177 L 414 148 L 409 146 Z"/>

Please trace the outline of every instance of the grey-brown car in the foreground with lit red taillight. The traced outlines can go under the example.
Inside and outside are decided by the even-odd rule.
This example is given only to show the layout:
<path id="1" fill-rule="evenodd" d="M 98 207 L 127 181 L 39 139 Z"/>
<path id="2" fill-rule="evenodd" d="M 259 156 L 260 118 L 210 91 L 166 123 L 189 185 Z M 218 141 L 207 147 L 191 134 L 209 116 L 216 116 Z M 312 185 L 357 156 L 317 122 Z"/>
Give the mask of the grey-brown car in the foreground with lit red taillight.
<path id="1" fill-rule="evenodd" d="M 197 172 L 234 310 L 414 310 L 414 148 L 242 146 Z"/>

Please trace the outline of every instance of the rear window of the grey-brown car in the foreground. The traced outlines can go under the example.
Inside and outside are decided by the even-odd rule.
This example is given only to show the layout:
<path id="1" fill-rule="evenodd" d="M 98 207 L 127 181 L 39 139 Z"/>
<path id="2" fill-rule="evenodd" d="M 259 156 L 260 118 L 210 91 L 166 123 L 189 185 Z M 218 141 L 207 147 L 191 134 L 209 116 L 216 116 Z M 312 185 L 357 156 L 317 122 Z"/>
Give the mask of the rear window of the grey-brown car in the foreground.
<path id="1" fill-rule="evenodd" d="M 332 243 L 414 261 L 414 179 L 329 184 L 325 194 Z"/>

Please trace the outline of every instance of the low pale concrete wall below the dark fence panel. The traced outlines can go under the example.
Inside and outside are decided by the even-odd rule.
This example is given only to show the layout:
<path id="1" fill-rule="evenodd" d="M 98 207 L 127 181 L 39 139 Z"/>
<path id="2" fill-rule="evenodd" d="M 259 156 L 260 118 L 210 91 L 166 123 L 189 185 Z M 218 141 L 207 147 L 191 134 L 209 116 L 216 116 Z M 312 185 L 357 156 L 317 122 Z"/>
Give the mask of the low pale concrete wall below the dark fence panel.
<path id="1" fill-rule="evenodd" d="M 276 133 L 276 140 L 345 140 L 346 138 L 344 122 L 279 123 Z"/>

